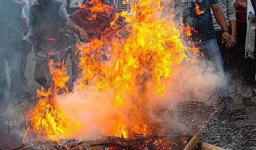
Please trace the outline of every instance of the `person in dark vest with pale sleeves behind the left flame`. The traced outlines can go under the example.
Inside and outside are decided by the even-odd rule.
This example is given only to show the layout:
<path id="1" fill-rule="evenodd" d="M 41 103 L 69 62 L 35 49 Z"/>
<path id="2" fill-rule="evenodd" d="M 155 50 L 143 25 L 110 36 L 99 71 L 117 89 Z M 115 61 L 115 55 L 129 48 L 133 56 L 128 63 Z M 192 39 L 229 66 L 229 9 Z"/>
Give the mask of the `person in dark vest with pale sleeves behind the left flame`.
<path id="1" fill-rule="evenodd" d="M 30 10 L 30 28 L 22 42 L 30 45 L 36 41 L 34 78 L 45 89 L 49 89 L 54 86 L 48 68 L 49 60 L 66 62 L 69 48 L 73 47 L 71 35 L 64 32 L 69 14 L 65 6 L 55 0 L 37 0 Z"/>

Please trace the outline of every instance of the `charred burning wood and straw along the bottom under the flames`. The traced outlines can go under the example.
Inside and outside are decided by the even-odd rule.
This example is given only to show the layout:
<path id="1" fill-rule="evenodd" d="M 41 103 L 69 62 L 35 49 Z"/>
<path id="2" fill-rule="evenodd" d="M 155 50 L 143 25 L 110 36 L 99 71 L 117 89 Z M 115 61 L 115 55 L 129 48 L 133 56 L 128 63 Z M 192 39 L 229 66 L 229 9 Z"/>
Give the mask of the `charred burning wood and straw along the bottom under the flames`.
<path id="1" fill-rule="evenodd" d="M 102 137 L 98 141 L 79 141 L 76 139 L 56 141 L 37 141 L 26 143 L 23 147 L 9 150 L 180 150 L 178 141 L 170 142 L 162 136 L 138 136 L 136 138 Z"/>

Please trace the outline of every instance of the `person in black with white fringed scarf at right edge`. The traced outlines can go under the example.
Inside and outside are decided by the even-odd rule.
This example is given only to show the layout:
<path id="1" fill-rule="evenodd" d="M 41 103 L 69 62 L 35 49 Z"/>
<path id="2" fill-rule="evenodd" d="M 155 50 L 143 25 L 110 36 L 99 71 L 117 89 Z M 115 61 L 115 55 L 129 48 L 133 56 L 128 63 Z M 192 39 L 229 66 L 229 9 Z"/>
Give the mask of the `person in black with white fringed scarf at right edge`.
<path id="1" fill-rule="evenodd" d="M 256 73 L 256 60 L 254 58 L 256 5 L 253 0 L 236 0 L 234 6 L 237 20 L 237 44 L 233 50 L 232 70 L 236 78 L 241 80 L 243 104 L 255 107 L 251 97 Z"/>

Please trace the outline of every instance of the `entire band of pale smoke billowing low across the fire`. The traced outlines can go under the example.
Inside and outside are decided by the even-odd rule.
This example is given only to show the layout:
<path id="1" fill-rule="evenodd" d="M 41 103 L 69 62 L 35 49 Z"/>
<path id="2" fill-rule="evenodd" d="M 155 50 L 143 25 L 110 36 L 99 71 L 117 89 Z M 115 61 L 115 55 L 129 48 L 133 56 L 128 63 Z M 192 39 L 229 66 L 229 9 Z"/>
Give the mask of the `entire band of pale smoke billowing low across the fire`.
<path id="1" fill-rule="evenodd" d="M 94 140 L 102 135 L 113 134 L 111 130 L 115 127 L 114 120 L 123 116 L 125 124 L 131 126 L 134 124 L 129 121 L 138 121 L 136 119 L 141 117 L 139 113 L 146 114 L 149 123 L 160 124 L 158 133 L 166 133 L 171 128 L 186 128 L 170 114 L 175 103 L 205 102 L 215 93 L 220 79 L 214 71 L 213 64 L 206 61 L 183 62 L 174 66 L 172 77 L 163 81 L 163 84 L 167 85 L 164 98 L 155 94 L 155 85 L 149 81 L 143 93 L 143 99 L 146 101 L 143 104 L 140 100 L 136 101 L 139 93 L 126 93 L 124 107 L 115 107 L 112 101 L 113 92 L 99 92 L 90 87 L 82 91 L 75 90 L 66 97 L 59 97 L 58 105 L 64 110 L 68 120 L 73 121 L 70 137 Z M 79 127 L 76 124 L 79 124 Z"/>

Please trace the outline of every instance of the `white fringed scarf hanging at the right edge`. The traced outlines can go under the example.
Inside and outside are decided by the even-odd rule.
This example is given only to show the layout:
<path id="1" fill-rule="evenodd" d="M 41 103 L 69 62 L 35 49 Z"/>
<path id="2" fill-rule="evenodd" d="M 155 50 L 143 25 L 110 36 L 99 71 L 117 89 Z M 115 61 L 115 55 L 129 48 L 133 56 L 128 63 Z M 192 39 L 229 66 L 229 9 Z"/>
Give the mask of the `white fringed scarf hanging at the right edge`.
<path id="1" fill-rule="evenodd" d="M 246 30 L 246 40 L 245 40 L 245 58 L 254 58 L 254 43 L 255 43 L 255 24 L 252 23 L 248 18 L 249 14 L 255 15 L 253 6 L 251 5 L 251 0 L 247 0 L 247 30 Z"/>

